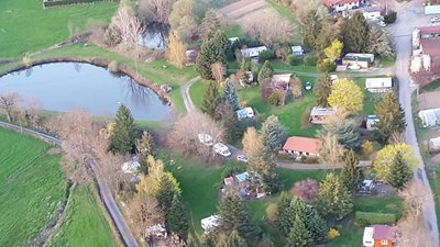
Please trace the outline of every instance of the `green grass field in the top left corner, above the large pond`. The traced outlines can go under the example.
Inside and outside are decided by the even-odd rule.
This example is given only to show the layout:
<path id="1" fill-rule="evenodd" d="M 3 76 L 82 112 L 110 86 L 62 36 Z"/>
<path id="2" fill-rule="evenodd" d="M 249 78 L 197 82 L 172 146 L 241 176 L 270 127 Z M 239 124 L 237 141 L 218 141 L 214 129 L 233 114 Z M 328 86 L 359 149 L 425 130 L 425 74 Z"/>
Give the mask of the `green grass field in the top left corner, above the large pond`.
<path id="1" fill-rule="evenodd" d="M 2 0 L 0 58 L 59 43 L 70 35 L 69 25 L 84 30 L 88 19 L 109 22 L 117 8 L 112 1 L 43 9 L 43 0 Z"/>

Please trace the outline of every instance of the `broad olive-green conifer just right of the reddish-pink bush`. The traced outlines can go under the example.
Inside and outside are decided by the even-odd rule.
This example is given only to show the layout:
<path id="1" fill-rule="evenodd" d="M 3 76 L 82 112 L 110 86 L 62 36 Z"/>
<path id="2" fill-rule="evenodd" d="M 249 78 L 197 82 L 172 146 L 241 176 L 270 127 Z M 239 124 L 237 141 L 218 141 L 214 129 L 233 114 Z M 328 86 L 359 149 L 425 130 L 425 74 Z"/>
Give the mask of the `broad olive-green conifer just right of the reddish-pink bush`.
<path id="1" fill-rule="evenodd" d="M 328 173 L 319 186 L 316 207 L 323 216 L 342 220 L 353 211 L 349 191 L 334 173 Z"/>

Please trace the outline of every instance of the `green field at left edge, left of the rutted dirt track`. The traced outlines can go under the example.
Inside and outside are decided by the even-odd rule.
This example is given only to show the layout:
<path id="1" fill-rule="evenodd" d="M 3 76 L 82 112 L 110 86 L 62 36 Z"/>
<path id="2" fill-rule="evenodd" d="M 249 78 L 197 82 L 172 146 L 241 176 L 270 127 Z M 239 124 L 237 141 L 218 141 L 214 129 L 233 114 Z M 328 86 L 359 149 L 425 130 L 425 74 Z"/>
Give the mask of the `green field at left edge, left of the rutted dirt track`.
<path id="1" fill-rule="evenodd" d="M 0 128 L 0 246 L 28 246 L 63 200 L 61 156 L 48 148 Z"/>

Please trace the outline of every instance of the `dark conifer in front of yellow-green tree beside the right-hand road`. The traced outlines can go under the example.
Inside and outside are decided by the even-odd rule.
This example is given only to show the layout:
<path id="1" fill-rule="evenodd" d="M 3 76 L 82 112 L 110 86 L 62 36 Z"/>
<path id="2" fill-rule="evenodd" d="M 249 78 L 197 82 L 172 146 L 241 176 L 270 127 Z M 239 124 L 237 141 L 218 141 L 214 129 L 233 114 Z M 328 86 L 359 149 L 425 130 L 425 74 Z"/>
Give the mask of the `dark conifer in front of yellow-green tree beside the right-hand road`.
<path id="1" fill-rule="evenodd" d="M 409 168 L 408 164 L 405 162 L 402 153 L 398 151 L 391 167 L 391 175 L 388 182 L 394 188 L 402 190 L 405 188 L 405 184 L 409 180 L 411 180 L 411 178 L 413 178 L 413 171 Z"/>

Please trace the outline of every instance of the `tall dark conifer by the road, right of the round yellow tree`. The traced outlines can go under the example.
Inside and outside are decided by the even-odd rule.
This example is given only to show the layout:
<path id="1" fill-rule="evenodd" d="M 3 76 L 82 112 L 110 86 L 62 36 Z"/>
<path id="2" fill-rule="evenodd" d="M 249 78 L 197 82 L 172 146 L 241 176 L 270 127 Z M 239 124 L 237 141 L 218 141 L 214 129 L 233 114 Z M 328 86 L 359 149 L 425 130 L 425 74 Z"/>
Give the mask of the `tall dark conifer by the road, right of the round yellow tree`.
<path id="1" fill-rule="evenodd" d="M 385 93 L 375 106 L 380 120 L 375 124 L 375 135 L 378 142 L 385 144 L 393 133 L 403 133 L 406 128 L 405 112 L 393 92 Z"/>

